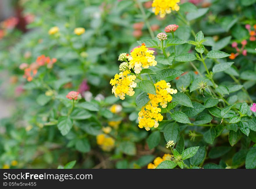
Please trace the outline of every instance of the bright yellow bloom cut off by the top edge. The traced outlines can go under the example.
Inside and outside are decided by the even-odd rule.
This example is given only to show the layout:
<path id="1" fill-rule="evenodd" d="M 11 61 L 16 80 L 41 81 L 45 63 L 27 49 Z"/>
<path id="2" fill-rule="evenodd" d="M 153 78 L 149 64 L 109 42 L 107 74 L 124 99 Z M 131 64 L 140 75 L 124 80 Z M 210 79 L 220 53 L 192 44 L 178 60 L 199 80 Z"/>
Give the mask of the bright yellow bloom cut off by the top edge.
<path id="1" fill-rule="evenodd" d="M 155 15 L 160 14 L 163 18 L 166 14 L 170 14 L 172 10 L 179 11 L 179 0 L 154 0 L 152 3 L 152 11 Z"/>

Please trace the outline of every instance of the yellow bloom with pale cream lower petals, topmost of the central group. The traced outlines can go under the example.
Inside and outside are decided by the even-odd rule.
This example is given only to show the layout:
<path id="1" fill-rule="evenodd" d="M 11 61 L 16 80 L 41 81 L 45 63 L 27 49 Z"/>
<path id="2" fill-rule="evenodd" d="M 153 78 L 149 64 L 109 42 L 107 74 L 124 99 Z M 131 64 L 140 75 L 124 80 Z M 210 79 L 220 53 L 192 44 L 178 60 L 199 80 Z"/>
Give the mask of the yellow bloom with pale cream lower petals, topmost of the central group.
<path id="1" fill-rule="evenodd" d="M 129 69 L 134 69 L 136 74 L 139 74 L 142 68 L 148 68 L 149 66 L 157 65 L 154 51 L 149 50 L 145 45 L 134 48 L 131 54 L 128 56 Z"/>

